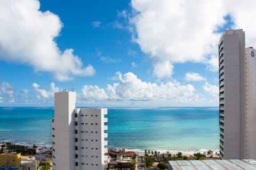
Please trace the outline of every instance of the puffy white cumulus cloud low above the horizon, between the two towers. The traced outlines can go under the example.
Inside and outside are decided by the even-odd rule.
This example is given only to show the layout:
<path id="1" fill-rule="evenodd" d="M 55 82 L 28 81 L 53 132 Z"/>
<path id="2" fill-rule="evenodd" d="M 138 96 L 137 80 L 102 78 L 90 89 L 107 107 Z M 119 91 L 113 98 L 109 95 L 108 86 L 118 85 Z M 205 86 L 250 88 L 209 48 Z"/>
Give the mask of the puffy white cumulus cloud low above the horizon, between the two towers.
<path id="1" fill-rule="evenodd" d="M 164 103 L 187 103 L 198 99 L 195 88 L 191 84 L 182 85 L 179 82 L 168 81 L 166 83 L 144 82 L 137 78 L 137 75 L 129 72 L 116 73 L 117 83 L 108 84 L 103 89 L 98 86 L 84 86 L 79 101 L 164 101 Z M 163 104 L 163 103 L 162 103 Z"/>

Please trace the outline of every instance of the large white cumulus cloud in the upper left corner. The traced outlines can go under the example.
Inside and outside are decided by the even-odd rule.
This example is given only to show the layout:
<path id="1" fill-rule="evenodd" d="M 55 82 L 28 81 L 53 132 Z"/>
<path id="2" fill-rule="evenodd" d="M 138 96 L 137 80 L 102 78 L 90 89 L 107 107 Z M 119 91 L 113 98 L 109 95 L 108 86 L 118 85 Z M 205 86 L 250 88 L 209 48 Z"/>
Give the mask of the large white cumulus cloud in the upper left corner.
<path id="1" fill-rule="evenodd" d="M 50 11 L 40 11 L 39 7 L 37 0 L 0 1 L 0 60 L 51 72 L 59 81 L 73 79 L 74 75 L 94 75 L 93 66 L 83 67 L 73 49 L 59 49 L 54 38 L 63 27 L 60 18 Z"/>

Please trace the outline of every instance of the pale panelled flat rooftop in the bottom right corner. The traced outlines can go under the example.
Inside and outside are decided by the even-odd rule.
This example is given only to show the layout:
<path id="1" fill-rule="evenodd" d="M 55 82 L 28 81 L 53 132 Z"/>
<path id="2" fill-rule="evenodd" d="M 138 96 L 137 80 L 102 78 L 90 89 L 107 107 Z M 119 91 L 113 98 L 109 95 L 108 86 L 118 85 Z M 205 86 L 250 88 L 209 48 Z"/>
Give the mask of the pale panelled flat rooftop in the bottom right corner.
<path id="1" fill-rule="evenodd" d="M 254 159 L 229 160 L 177 160 L 169 161 L 169 169 L 202 169 L 202 170 L 256 170 Z"/>

